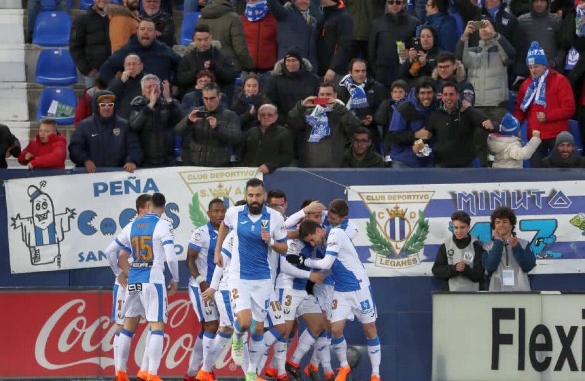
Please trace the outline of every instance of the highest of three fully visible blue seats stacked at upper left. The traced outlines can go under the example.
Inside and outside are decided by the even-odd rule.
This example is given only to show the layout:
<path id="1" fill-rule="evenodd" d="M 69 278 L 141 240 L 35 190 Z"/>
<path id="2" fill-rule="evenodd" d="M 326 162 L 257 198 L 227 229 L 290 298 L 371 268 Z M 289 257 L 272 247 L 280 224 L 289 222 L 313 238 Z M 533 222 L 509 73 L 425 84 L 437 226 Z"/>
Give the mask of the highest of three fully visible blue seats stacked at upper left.
<path id="1" fill-rule="evenodd" d="M 40 46 L 68 46 L 71 18 L 67 12 L 40 12 L 35 21 L 33 44 Z"/>

